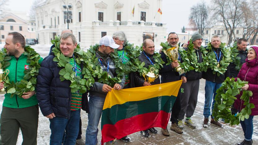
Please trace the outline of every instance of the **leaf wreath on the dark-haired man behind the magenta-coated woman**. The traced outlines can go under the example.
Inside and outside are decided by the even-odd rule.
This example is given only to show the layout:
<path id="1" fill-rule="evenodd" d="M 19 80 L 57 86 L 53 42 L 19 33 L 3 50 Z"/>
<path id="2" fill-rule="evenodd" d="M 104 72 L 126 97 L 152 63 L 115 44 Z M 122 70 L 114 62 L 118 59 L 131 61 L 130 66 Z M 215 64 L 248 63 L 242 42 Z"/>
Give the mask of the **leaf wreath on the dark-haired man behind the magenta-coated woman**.
<path id="1" fill-rule="evenodd" d="M 237 42 L 234 43 L 234 45 L 232 47 L 230 47 L 230 52 L 231 52 L 231 62 L 233 62 L 236 67 L 235 69 L 237 71 L 240 71 L 241 67 L 242 67 L 242 64 L 240 62 L 240 57 L 238 56 L 239 55 L 239 51 L 238 51 L 238 46 L 237 46 Z"/>

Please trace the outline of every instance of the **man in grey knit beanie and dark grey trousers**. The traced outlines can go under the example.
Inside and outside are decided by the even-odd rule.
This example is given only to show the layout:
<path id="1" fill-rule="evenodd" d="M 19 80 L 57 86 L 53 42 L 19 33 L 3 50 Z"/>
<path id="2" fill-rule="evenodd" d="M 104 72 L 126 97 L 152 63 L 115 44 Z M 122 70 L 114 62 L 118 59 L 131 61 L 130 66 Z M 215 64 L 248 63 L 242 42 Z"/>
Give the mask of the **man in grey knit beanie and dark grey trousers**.
<path id="1" fill-rule="evenodd" d="M 192 35 L 192 43 L 194 44 L 194 50 L 197 56 L 198 63 L 202 62 L 202 52 L 200 47 L 202 45 L 202 35 L 199 33 L 194 33 Z M 188 47 L 184 47 L 185 51 L 189 51 Z M 194 110 L 197 104 L 197 97 L 199 91 L 200 79 L 202 78 L 202 72 L 196 72 L 191 70 L 185 74 L 187 79 L 186 83 L 181 86 L 181 110 L 178 116 L 178 125 L 181 129 L 184 128 L 182 120 L 186 114 L 185 125 L 190 128 L 196 128 L 191 120 L 191 116 L 194 114 Z"/>

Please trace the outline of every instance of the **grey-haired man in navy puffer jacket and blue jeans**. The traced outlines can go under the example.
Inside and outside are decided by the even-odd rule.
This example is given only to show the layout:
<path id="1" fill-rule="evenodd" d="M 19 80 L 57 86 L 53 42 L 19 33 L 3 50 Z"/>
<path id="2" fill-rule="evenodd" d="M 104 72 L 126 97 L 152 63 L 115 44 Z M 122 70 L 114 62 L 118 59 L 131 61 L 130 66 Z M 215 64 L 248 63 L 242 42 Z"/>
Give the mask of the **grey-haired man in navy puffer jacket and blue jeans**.
<path id="1" fill-rule="evenodd" d="M 75 74 L 82 78 L 82 65 L 79 65 L 73 56 L 77 46 L 76 38 L 71 33 L 64 33 L 60 37 L 60 51 L 70 58 Z M 64 130 L 64 145 L 75 144 L 79 131 L 80 110 L 87 93 L 71 93 L 71 81 L 60 81 L 59 72 L 63 67 L 58 67 L 53 61 L 54 53 L 47 56 L 41 63 L 37 76 L 37 99 L 41 112 L 50 121 L 50 144 L 61 144 Z M 81 63 L 82 64 L 82 63 Z M 75 103 L 76 102 L 76 103 Z M 86 103 L 87 104 L 87 103 Z M 85 109 L 85 108 L 83 108 Z M 87 110 L 88 112 L 88 110 Z"/>

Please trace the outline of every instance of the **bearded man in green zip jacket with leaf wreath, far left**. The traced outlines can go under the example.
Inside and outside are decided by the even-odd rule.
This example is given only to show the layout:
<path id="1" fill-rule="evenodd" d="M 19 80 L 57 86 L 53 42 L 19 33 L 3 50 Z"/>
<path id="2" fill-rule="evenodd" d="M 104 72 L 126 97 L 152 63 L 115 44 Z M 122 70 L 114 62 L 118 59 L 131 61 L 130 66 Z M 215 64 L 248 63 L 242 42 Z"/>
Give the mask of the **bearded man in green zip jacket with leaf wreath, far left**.
<path id="1" fill-rule="evenodd" d="M 22 144 L 35 145 L 37 144 L 38 130 L 38 100 L 35 95 L 35 87 L 31 82 L 36 83 L 36 79 L 32 80 L 31 73 L 27 72 L 32 70 L 33 64 L 39 65 L 42 58 L 29 46 L 25 47 L 25 39 L 18 32 L 9 33 L 5 42 L 5 50 L 0 54 L 4 54 L 8 59 L 1 62 L 4 65 L 0 69 L 0 90 L 2 92 L 3 84 L 5 84 L 7 94 L 5 94 L 0 119 L 0 144 L 16 144 L 21 129 Z M 34 59 L 28 57 L 33 55 Z M 33 62 L 33 64 L 28 62 Z M 37 68 L 33 68 L 33 70 L 37 72 Z M 3 71 L 4 69 L 5 71 Z M 6 77 L 7 74 L 8 77 Z M 37 74 L 33 73 L 33 75 Z M 3 79 L 5 82 L 2 81 Z M 23 81 L 28 82 L 27 86 L 22 83 Z M 27 88 L 30 86 L 32 87 L 31 91 L 19 90 L 23 85 L 26 86 L 24 91 L 28 90 Z"/>

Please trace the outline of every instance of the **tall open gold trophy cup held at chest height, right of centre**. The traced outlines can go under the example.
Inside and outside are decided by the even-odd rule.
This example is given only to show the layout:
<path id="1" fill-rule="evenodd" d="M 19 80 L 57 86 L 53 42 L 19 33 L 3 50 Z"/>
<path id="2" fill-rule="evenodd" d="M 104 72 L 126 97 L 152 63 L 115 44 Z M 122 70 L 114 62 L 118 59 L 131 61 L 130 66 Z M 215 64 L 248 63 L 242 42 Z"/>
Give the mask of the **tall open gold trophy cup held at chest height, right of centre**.
<path id="1" fill-rule="evenodd" d="M 167 49 L 166 51 L 163 51 L 165 53 L 165 55 L 167 55 L 169 57 L 169 59 L 171 61 L 178 61 L 178 45 L 176 44 L 176 47 L 171 47 L 169 49 Z M 179 73 L 179 75 L 185 73 L 185 71 L 180 68 L 180 65 L 178 65 L 176 67 L 176 72 Z"/>

